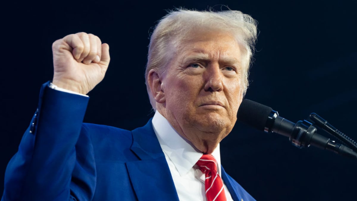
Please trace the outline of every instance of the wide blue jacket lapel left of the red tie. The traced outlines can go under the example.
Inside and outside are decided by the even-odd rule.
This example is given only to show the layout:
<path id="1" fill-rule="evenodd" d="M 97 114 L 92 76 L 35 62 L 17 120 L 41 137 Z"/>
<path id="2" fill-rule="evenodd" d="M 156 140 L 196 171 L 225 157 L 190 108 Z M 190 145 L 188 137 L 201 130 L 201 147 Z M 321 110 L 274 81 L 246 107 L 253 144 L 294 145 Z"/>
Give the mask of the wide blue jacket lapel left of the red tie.
<path id="1" fill-rule="evenodd" d="M 132 136 L 130 149 L 140 160 L 126 162 L 126 167 L 138 200 L 178 201 L 175 184 L 151 119 L 144 127 L 133 130 Z"/>

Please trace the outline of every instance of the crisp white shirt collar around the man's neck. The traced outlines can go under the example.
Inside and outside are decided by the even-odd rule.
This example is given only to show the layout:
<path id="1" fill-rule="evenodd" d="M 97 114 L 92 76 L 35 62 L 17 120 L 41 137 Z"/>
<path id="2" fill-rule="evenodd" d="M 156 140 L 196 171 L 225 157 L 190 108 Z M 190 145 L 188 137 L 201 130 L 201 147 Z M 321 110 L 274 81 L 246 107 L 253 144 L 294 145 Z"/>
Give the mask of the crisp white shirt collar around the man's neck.
<path id="1" fill-rule="evenodd" d="M 181 137 L 167 119 L 156 111 L 152 118 L 152 127 L 154 128 L 157 139 L 159 140 L 162 151 L 174 163 L 180 176 L 186 175 L 188 171 L 196 164 L 203 155 L 193 144 Z M 221 175 L 221 157 L 220 144 L 212 152 L 216 158 L 218 174 Z"/>

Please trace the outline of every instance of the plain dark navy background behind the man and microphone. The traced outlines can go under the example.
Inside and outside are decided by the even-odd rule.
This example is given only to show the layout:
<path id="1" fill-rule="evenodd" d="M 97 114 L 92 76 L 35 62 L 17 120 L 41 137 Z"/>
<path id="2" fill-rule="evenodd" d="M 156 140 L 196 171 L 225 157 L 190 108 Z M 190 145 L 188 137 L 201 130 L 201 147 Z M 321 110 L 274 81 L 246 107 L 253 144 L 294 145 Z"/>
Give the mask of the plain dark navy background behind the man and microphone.
<path id="1" fill-rule="evenodd" d="M 79 31 L 110 45 L 105 79 L 89 93 L 85 122 L 125 129 L 152 117 L 144 71 L 149 32 L 165 9 L 228 5 L 258 20 L 246 98 L 293 122 L 320 114 L 351 138 L 357 102 L 356 1 L 10 1 L 1 6 L 0 191 L 7 162 L 52 79 L 51 44 Z M 215 6 L 216 5 L 216 6 Z M 218 6 L 217 6 L 218 5 Z M 322 134 L 326 134 L 321 132 Z M 257 200 L 357 200 L 357 161 L 237 123 L 222 164 Z"/>

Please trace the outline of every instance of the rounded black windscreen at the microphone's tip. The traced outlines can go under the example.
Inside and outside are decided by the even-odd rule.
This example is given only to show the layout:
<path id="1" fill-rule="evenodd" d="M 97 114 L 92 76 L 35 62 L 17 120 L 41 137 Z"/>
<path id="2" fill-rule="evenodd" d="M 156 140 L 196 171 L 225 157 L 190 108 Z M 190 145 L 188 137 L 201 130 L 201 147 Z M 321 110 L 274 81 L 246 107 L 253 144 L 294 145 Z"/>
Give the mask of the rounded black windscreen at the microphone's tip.
<path id="1" fill-rule="evenodd" d="M 244 99 L 238 109 L 237 119 L 260 131 L 264 131 L 267 119 L 272 110 L 271 107 Z"/>

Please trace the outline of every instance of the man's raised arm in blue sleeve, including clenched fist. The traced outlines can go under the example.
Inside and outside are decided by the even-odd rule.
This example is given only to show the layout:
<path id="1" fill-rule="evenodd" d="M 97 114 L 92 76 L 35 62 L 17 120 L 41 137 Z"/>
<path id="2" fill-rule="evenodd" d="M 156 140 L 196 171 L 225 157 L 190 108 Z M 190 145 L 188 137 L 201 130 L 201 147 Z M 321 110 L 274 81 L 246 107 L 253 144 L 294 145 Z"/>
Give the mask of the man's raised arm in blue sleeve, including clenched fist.
<path id="1" fill-rule="evenodd" d="M 104 78 L 110 60 L 108 44 L 86 33 L 56 40 L 52 52 L 52 83 L 81 94 Z M 6 168 L 1 201 L 91 200 L 94 194 L 93 147 L 80 134 L 89 98 L 48 85 L 42 85 L 34 118 Z"/>

